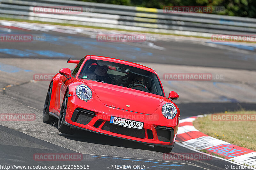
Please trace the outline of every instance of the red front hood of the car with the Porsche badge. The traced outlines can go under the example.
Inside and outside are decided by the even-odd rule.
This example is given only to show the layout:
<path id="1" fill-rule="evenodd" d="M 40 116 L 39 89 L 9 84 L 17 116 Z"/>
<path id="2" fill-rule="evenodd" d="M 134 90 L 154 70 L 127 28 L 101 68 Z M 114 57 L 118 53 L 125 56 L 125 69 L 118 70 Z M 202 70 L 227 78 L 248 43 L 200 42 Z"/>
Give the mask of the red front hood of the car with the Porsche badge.
<path id="1" fill-rule="evenodd" d="M 163 96 L 143 92 L 118 85 L 87 80 L 103 104 L 143 114 L 153 114 L 162 101 Z"/>

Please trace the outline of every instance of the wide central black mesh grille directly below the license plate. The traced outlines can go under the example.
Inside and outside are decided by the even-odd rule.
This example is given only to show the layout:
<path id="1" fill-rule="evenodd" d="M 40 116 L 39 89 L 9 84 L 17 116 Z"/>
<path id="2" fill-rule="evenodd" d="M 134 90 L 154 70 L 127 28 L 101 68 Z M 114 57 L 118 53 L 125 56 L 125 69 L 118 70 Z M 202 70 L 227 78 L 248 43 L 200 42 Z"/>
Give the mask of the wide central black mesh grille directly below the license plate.
<path id="1" fill-rule="evenodd" d="M 107 130 L 109 132 L 113 132 L 113 133 L 118 133 L 121 135 L 126 135 L 126 136 L 130 136 L 130 137 L 138 137 L 141 139 L 145 138 L 145 130 L 137 130 L 137 129 L 131 129 L 131 128 L 126 128 L 126 127 L 122 127 L 122 126 L 117 126 L 117 125 L 113 125 L 110 124 L 109 121 L 107 121 L 101 128 L 102 130 Z"/>

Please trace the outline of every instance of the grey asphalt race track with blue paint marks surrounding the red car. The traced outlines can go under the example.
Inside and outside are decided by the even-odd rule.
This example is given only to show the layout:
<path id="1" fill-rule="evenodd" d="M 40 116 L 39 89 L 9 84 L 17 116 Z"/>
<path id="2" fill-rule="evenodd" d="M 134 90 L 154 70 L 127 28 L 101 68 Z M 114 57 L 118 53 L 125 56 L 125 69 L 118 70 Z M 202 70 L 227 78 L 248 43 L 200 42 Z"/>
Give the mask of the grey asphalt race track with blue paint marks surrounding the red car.
<path id="1" fill-rule="evenodd" d="M 211 157 L 169 160 L 153 146 L 86 131 L 59 133 L 56 124 L 42 121 L 49 81 L 34 81 L 37 73 L 57 73 L 69 57 L 103 55 L 153 68 L 165 93 L 178 92 L 181 119 L 227 110 L 256 109 L 256 45 L 147 34 L 144 42 L 100 42 L 98 33 L 117 31 L 0 21 L 0 34 L 32 34 L 32 42 L 0 42 L 0 114 L 31 113 L 34 121 L 0 121 L 0 165 L 142 165 L 135 169 L 225 169 L 237 165 Z M 211 73 L 211 81 L 168 81 L 164 73 Z M 218 79 L 218 75 L 224 78 Z M 2 88 L 5 87 L 3 91 Z M 79 161 L 35 161 L 36 153 L 78 153 Z M 175 144 L 171 155 L 197 153 Z M 144 167 L 144 166 L 145 167 Z M 229 168 L 230 169 L 230 168 Z"/>

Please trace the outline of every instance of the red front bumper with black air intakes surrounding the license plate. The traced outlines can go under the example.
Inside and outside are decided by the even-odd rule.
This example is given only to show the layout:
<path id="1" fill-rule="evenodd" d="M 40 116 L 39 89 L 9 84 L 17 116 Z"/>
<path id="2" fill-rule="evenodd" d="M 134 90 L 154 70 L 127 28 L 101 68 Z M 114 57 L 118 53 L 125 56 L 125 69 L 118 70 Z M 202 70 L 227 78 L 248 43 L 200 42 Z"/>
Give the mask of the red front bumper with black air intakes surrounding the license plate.
<path id="1" fill-rule="evenodd" d="M 111 116 L 143 122 L 143 129 L 110 124 Z M 167 120 L 159 113 L 140 114 L 104 105 L 98 98 L 85 102 L 73 95 L 68 97 L 64 124 L 77 129 L 168 148 L 173 148 L 178 130 L 178 118 Z"/>

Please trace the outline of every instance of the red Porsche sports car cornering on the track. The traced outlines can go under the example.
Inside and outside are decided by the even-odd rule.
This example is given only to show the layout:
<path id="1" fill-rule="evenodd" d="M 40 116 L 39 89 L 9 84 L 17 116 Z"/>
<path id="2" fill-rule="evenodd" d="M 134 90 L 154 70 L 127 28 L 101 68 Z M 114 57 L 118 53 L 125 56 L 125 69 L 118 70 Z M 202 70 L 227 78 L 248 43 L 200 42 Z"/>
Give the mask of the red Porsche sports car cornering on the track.
<path id="1" fill-rule="evenodd" d="M 156 71 L 119 59 L 87 55 L 70 71 L 61 69 L 49 85 L 43 120 L 58 120 L 62 133 L 88 130 L 112 137 L 154 145 L 171 152 L 180 110 L 165 97 Z"/>

